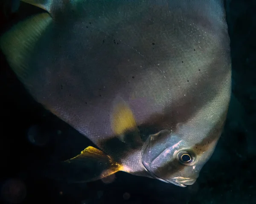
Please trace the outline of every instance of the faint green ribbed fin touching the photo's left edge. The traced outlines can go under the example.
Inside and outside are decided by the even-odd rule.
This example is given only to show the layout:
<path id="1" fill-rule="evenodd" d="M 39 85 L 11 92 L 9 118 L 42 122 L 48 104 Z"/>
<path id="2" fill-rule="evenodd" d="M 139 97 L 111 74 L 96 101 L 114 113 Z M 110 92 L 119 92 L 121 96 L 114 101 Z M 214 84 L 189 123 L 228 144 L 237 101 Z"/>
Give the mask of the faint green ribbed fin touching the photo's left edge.
<path id="1" fill-rule="evenodd" d="M 49 14 L 38 14 L 17 23 L 0 38 L 3 54 L 18 78 L 24 79 L 29 73 L 28 60 L 35 43 L 51 21 Z"/>

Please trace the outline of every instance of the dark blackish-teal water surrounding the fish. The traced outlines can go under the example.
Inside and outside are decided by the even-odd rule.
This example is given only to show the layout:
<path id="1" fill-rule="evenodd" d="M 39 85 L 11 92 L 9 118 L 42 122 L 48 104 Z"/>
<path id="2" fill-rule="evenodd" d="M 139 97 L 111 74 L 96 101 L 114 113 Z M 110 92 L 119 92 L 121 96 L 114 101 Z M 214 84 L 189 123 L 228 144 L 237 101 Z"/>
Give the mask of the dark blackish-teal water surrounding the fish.
<path id="1" fill-rule="evenodd" d="M 224 132 L 194 185 L 181 188 L 122 172 L 87 184 L 37 176 L 32 166 L 69 159 L 91 143 L 35 102 L 0 53 L 0 203 L 256 204 L 256 0 L 227 0 L 226 4 L 232 98 Z M 2 0 L 1 32 L 41 12 L 24 4 L 15 14 L 6 8 Z M 28 131 L 43 139 L 32 144 Z"/>

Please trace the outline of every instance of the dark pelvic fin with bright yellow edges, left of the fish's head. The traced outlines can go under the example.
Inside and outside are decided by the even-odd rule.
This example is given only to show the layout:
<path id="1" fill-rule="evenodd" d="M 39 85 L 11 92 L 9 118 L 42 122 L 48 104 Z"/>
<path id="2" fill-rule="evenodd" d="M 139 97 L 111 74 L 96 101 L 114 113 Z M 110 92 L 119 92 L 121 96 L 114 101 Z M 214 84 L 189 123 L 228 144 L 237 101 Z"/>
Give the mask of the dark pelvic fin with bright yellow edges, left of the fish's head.
<path id="1" fill-rule="evenodd" d="M 58 168 L 53 170 L 55 178 L 68 182 L 89 182 L 110 176 L 122 170 L 122 166 L 110 156 L 95 147 L 87 147 L 78 156 L 61 162 Z"/>

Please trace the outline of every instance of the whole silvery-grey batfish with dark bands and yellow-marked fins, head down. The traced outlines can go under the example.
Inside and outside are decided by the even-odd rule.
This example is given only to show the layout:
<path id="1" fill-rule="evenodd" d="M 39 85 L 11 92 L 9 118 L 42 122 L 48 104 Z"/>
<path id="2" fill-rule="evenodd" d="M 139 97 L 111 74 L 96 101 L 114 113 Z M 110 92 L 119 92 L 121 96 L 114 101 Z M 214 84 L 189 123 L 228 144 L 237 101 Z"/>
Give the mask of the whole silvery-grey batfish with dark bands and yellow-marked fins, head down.
<path id="1" fill-rule="evenodd" d="M 46 12 L 3 34 L 9 65 L 35 100 L 99 148 L 63 161 L 65 178 L 121 170 L 195 183 L 230 101 L 224 1 L 24 1 Z"/>

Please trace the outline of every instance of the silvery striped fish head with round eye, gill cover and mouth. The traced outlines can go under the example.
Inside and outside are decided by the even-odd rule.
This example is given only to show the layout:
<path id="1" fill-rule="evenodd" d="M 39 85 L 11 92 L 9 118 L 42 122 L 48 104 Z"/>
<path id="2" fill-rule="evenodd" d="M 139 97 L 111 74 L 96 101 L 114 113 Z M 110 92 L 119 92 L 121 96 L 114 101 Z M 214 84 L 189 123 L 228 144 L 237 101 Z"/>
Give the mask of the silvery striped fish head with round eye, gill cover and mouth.
<path id="1" fill-rule="evenodd" d="M 180 187 L 192 185 L 212 155 L 218 135 L 212 132 L 201 142 L 192 142 L 180 133 L 162 130 L 150 135 L 143 145 L 143 166 L 151 177 L 160 181 Z"/>

